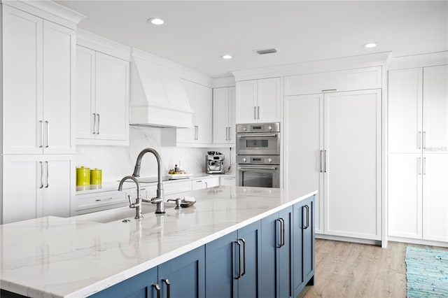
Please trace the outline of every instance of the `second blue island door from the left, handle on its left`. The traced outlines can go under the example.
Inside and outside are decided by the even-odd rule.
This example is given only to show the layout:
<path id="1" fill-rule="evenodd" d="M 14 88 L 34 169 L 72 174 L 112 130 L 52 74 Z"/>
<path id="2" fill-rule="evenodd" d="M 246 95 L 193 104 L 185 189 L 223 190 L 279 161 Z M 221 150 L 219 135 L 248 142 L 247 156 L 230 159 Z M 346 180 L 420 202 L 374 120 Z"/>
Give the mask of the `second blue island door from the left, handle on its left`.
<path id="1" fill-rule="evenodd" d="M 205 297 L 205 248 L 201 246 L 158 267 L 161 297 Z"/>

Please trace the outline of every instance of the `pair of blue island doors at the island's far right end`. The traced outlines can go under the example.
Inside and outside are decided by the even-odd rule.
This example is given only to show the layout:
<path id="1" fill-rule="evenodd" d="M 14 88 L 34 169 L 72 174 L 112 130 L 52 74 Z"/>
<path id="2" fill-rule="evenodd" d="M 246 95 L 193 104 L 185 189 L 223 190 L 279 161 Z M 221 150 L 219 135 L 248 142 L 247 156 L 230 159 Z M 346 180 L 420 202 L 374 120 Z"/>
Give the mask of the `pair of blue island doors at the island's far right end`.
<path id="1" fill-rule="evenodd" d="M 314 285 L 314 196 L 293 206 L 294 297 Z"/>

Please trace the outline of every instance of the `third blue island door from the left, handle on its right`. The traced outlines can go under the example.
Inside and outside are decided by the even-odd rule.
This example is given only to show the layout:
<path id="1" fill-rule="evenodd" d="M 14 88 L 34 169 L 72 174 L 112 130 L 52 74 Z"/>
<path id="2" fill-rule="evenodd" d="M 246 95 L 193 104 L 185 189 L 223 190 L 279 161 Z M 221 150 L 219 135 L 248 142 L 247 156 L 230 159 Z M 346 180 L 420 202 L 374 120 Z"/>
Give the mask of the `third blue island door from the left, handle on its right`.
<path id="1" fill-rule="evenodd" d="M 238 297 L 238 232 L 232 232 L 205 245 L 205 296 Z"/>

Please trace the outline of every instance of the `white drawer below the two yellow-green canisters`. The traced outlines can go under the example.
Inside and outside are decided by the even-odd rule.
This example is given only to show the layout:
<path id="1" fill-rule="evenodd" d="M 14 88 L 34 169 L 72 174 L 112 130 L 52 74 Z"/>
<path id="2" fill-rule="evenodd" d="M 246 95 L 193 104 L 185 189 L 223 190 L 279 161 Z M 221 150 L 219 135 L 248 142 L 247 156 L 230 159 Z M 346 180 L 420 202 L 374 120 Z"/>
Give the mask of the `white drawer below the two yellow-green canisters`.
<path id="1" fill-rule="evenodd" d="M 95 194 L 79 194 L 76 196 L 76 211 L 99 208 L 101 210 L 107 209 L 104 207 L 113 206 L 111 208 L 116 208 L 117 205 L 125 206 L 128 204 L 127 192 L 98 192 Z M 94 210 L 98 211 L 98 210 Z"/>

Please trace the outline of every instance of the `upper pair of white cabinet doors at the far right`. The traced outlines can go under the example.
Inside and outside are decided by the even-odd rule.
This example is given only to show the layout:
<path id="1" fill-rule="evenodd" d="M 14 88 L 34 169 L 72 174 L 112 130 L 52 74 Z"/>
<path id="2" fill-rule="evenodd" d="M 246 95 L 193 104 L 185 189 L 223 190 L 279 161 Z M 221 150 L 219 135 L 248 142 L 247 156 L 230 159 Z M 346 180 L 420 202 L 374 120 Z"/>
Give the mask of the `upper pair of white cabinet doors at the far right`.
<path id="1" fill-rule="evenodd" d="M 448 66 L 389 71 L 389 152 L 448 152 Z"/>

